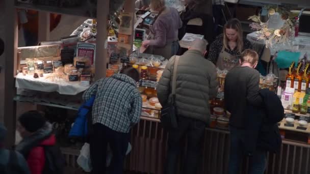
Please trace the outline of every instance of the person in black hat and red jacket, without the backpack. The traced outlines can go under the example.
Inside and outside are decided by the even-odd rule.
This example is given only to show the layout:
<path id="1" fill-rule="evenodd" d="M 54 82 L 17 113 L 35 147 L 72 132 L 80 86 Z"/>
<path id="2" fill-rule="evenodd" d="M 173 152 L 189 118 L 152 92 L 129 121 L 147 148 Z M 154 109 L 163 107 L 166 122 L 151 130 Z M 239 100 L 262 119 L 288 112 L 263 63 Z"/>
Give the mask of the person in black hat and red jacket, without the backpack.
<path id="1" fill-rule="evenodd" d="M 27 159 L 31 174 L 42 174 L 45 165 L 44 147 L 56 145 L 51 124 L 39 111 L 32 110 L 20 115 L 17 131 L 23 139 L 17 144 L 16 150 Z"/>

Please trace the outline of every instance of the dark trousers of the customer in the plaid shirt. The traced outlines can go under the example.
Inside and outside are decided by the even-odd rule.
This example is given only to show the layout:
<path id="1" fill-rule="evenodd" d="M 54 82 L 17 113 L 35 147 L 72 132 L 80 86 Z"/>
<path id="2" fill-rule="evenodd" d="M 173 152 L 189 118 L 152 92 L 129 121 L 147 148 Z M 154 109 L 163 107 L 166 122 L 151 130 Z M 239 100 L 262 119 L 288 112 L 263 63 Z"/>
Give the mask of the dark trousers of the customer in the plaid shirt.
<path id="1" fill-rule="evenodd" d="M 127 151 L 129 133 L 116 132 L 105 125 L 93 125 L 93 134 L 90 136 L 90 158 L 92 174 L 105 174 L 107 172 L 107 146 L 112 150 L 112 161 L 108 171 L 110 174 L 123 172 L 123 162 Z"/>

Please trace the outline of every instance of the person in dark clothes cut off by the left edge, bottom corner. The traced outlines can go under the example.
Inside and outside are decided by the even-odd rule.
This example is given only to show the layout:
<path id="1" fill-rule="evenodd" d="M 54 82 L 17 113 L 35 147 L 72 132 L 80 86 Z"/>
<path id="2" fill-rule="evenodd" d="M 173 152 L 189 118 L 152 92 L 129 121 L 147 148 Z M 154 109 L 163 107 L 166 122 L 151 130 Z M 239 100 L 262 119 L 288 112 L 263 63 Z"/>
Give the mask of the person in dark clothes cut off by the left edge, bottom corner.
<path id="1" fill-rule="evenodd" d="M 0 123 L 0 173 L 2 174 L 30 174 L 26 160 L 16 151 L 4 148 L 7 134 L 6 127 Z"/>

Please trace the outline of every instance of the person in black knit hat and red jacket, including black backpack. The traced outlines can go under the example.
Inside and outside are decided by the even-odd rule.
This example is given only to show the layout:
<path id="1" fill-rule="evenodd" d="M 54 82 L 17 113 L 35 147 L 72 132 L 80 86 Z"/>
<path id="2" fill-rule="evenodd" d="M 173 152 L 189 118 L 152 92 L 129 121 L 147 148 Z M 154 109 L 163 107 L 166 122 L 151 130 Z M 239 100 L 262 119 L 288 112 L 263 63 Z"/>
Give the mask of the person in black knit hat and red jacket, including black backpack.
<path id="1" fill-rule="evenodd" d="M 56 146 L 53 129 L 39 111 L 20 115 L 17 131 L 23 138 L 16 146 L 27 159 L 31 174 L 63 173 L 65 161 Z"/>

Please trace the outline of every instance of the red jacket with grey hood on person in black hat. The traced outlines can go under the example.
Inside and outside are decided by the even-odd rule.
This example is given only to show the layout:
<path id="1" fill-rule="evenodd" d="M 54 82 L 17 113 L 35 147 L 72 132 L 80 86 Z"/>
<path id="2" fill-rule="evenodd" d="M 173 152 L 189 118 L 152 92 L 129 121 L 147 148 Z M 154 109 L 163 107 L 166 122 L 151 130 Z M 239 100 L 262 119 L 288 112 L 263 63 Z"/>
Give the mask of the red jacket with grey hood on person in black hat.
<path id="1" fill-rule="evenodd" d="M 44 146 L 55 146 L 56 137 L 52 134 L 52 127 L 47 123 L 34 134 L 25 137 L 17 146 L 30 169 L 31 174 L 42 174 L 45 165 Z"/>

